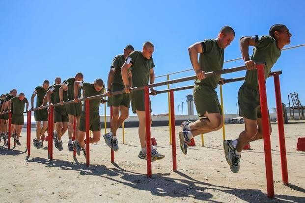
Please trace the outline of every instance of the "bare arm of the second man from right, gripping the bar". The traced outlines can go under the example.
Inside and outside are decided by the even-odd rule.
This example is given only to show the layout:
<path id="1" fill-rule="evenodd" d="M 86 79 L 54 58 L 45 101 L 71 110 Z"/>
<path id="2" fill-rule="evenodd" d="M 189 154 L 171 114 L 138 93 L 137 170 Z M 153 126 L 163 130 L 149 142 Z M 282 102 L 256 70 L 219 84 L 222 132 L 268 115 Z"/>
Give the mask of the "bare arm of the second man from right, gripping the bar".
<path id="1" fill-rule="evenodd" d="M 198 63 L 198 53 L 203 53 L 204 51 L 202 49 L 201 42 L 196 42 L 195 44 L 191 45 L 191 47 L 189 47 L 188 50 L 189 50 L 190 60 L 197 78 L 204 79 L 205 78 L 204 71 L 200 70 L 200 66 Z"/>

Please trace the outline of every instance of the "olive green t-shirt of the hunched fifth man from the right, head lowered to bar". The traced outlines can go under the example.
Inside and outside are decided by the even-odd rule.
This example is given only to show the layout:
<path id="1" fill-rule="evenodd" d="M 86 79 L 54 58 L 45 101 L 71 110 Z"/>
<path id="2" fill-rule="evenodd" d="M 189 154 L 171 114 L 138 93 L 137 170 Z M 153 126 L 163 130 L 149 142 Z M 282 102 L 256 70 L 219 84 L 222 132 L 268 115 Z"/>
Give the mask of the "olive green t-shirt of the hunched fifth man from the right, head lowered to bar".
<path id="1" fill-rule="evenodd" d="M 83 91 L 83 96 L 84 98 L 87 97 L 92 97 L 95 95 L 101 95 L 103 94 L 104 89 L 101 89 L 101 91 L 97 92 L 94 88 L 94 84 L 88 83 L 88 82 L 83 82 L 80 83 L 80 86 L 82 87 Z M 99 99 L 94 99 L 94 100 L 89 100 L 89 113 L 98 113 L 99 112 L 99 107 L 100 107 L 100 103 L 101 103 L 101 98 Z M 86 104 L 87 100 L 84 102 L 83 105 L 83 111 L 85 112 L 85 104 Z"/>

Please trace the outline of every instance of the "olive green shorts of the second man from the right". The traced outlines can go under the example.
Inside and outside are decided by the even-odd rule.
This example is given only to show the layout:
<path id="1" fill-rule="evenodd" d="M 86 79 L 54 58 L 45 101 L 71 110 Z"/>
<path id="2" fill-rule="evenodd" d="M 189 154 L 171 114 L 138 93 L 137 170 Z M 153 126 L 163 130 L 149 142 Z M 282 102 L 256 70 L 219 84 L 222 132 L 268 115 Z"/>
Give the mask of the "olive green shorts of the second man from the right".
<path id="1" fill-rule="evenodd" d="M 222 106 L 213 87 L 195 85 L 193 95 L 199 119 L 204 117 L 205 112 L 220 113 L 222 115 Z"/>

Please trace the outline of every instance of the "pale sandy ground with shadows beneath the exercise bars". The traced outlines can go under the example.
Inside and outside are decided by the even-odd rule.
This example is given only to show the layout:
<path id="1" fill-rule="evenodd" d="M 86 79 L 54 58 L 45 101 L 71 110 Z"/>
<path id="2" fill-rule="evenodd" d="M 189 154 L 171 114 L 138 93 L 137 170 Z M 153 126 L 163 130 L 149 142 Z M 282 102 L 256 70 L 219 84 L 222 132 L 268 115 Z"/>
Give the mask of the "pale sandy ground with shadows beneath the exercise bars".
<path id="1" fill-rule="evenodd" d="M 226 125 L 227 138 L 235 138 L 243 127 Z M 67 133 L 64 150 L 54 149 L 53 161 L 48 160 L 47 148 L 32 147 L 27 159 L 26 132 L 22 146 L 13 150 L 7 151 L 2 142 L 0 202 L 305 202 L 305 152 L 296 151 L 297 138 L 305 136 L 305 123 L 285 125 L 289 186 L 281 183 L 277 126 L 272 127 L 275 199 L 266 195 L 262 141 L 251 143 L 253 150 L 243 152 L 240 172 L 233 174 L 223 155 L 222 130 L 206 134 L 205 147 L 198 136 L 197 146 L 189 148 L 187 155 L 177 147 L 178 171 L 173 172 L 168 127 L 152 127 L 158 151 L 166 155 L 152 163 L 152 178 L 146 178 L 146 161 L 138 158 L 138 128 L 125 129 L 125 145 L 118 130 L 120 150 L 115 152 L 114 164 L 103 140 L 92 144 L 89 168 L 83 154 L 73 159 L 68 152 Z"/>

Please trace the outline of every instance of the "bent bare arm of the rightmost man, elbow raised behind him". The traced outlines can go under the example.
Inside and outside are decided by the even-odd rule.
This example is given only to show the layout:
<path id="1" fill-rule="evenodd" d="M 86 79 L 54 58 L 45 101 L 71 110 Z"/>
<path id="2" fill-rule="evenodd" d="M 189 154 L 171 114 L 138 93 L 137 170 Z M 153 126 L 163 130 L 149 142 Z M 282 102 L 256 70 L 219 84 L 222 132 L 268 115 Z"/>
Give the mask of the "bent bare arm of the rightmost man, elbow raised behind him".
<path id="1" fill-rule="evenodd" d="M 248 70 L 254 69 L 254 61 L 250 60 L 249 56 L 249 46 L 254 46 L 257 42 L 258 37 L 257 35 L 253 37 L 241 37 L 239 40 L 240 50 L 242 52 L 243 59 L 245 61 L 245 65 L 247 66 Z"/>

